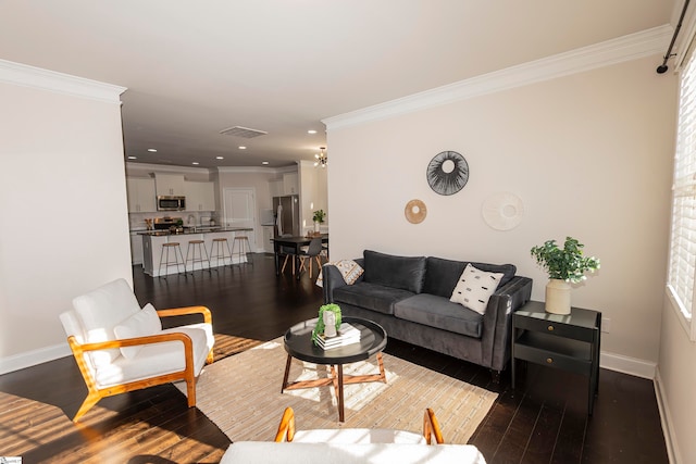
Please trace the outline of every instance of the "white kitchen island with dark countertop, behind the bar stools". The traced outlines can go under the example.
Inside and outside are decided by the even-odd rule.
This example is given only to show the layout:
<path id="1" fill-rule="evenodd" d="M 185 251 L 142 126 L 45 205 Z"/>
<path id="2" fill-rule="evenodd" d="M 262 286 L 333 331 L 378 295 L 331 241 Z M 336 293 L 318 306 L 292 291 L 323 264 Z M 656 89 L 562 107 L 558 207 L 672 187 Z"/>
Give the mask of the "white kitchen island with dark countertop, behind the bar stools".
<path id="1" fill-rule="evenodd" d="M 179 231 L 170 231 L 170 230 L 145 230 L 138 233 L 142 237 L 142 268 L 144 272 L 152 277 L 159 277 L 161 275 L 169 274 L 177 274 L 177 266 L 165 266 L 162 265 L 160 273 L 160 256 L 162 255 L 162 246 L 164 243 L 177 242 L 181 246 L 182 254 L 184 260 L 186 260 L 186 253 L 188 250 L 188 242 L 190 240 L 203 240 L 203 247 L 206 247 L 206 252 L 210 258 L 211 253 L 214 253 L 213 250 L 213 239 L 216 238 L 226 238 L 227 243 L 229 244 L 229 249 L 232 250 L 234 238 L 237 235 L 246 235 L 247 233 L 252 231 L 252 228 L 249 227 L 184 227 L 179 229 Z M 224 247 L 224 243 L 223 243 Z M 191 263 L 194 248 L 196 248 L 196 260 L 198 260 L 198 246 L 191 246 L 191 251 L 189 261 L 186 263 L 186 272 L 207 269 L 208 262 L 196 261 Z M 174 251 L 174 250 L 171 250 Z M 236 251 L 236 250 L 235 250 Z M 178 253 L 177 253 L 178 254 Z M 222 251 L 220 252 L 222 254 Z M 236 254 L 236 253 L 235 253 Z M 164 252 L 164 256 L 166 256 L 166 251 Z M 204 259 L 206 256 L 203 256 Z M 181 258 L 179 258 L 181 259 Z M 239 256 L 229 256 L 227 248 L 225 247 L 225 258 L 211 258 L 211 266 L 226 266 L 232 264 L 240 264 L 247 261 L 246 255 Z M 172 258 L 172 253 L 170 252 L 170 262 L 174 262 Z M 179 266 L 182 269 L 183 266 Z"/>

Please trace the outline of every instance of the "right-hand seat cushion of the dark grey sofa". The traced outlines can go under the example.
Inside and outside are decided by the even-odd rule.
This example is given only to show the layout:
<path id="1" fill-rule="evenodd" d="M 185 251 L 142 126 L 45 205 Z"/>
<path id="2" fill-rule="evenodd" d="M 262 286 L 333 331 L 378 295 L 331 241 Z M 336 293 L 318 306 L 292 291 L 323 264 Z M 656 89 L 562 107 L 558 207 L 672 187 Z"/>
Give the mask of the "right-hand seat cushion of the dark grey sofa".
<path id="1" fill-rule="evenodd" d="M 483 334 L 481 314 L 430 293 L 414 294 L 397 302 L 394 305 L 394 315 L 400 319 L 468 337 L 481 338 Z"/>

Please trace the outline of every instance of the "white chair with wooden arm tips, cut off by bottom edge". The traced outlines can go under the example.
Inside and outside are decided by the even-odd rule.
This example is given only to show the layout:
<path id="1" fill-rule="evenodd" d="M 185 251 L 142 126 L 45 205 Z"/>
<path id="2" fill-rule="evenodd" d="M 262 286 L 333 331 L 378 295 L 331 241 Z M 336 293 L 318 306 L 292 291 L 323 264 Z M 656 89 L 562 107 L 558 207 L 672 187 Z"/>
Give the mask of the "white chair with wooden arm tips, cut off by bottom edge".
<path id="1" fill-rule="evenodd" d="M 427 444 L 435 439 L 435 446 Z M 406 430 L 339 428 L 296 430 L 295 414 L 287 407 L 275 441 L 236 441 L 221 464 L 485 464 L 470 444 L 444 444 L 439 424 L 430 407 L 423 417 L 423 435 Z"/>

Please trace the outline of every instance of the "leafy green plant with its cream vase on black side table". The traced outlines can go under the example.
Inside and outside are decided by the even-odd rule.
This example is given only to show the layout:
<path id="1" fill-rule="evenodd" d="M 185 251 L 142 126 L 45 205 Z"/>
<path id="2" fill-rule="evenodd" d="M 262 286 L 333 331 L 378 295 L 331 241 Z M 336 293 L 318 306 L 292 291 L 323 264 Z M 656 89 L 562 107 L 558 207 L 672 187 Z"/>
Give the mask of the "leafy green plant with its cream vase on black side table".
<path id="1" fill-rule="evenodd" d="M 532 247 L 532 256 L 547 273 L 546 311 L 554 314 L 570 314 L 570 284 L 585 280 L 586 272 L 599 268 L 599 259 L 584 255 L 585 246 L 572 237 L 566 237 L 563 248 L 556 240 Z"/>

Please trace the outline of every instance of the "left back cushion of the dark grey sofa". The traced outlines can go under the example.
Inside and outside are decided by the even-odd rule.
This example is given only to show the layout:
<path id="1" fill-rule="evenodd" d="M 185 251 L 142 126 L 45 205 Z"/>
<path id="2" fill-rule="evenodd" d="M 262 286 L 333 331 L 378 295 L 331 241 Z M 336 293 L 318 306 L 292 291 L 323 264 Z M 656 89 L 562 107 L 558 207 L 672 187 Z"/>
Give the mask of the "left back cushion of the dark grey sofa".
<path id="1" fill-rule="evenodd" d="M 365 250 L 363 280 L 420 293 L 425 277 L 425 256 L 396 256 Z"/>

